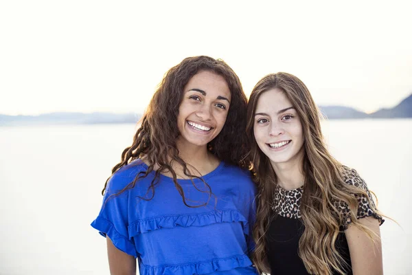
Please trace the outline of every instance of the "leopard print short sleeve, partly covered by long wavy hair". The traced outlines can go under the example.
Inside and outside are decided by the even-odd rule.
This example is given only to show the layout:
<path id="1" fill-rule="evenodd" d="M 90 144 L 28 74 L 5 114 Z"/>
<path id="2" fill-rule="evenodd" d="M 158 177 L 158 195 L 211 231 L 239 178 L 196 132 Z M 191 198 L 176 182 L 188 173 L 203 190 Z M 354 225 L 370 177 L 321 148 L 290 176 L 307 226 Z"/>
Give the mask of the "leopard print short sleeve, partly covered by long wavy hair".
<path id="1" fill-rule="evenodd" d="M 367 196 L 369 197 L 368 201 L 365 195 L 354 194 L 354 196 L 358 199 L 359 203 L 357 218 L 362 219 L 365 217 L 374 217 L 375 219 L 378 219 L 379 225 L 381 225 L 385 220 L 382 219 L 382 217 L 379 214 L 376 214 L 376 212 L 374 212 L 374 210 L 371 209 L 376 209 L 374 199 L 371 196 L 371 192 L 369 192 L 369 189 L 367 188 L 366 182 L 358 175 L 358 172 L 356 172 L 355 169 L 343 166 L 343 179 L 345 183 L 365 190 L 367 192 Z M 345 209 L 342 209 L 343 225 L 341 226 L 341 230 L 346 230 L 347 226 L 352 222 L 352 220 L 350 218 L 350 210 L 349 206 L 347 206 L 347 203 L 344 203 L 343 208 Z"/>

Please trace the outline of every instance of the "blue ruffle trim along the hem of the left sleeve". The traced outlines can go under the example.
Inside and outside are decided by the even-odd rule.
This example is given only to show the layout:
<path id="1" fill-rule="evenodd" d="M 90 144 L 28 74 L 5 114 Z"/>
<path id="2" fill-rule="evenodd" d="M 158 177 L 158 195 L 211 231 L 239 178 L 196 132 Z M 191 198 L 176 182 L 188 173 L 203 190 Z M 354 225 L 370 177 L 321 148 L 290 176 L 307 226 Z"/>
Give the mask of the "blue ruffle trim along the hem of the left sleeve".
<path id="1" fill-rule="evenodd" d="M 102 236 L 108 236 L 111 239 L 113 245 L 120 250 L 125 252 L 126 254 L 132 255 L 137 258 L 137 252 L 135 249 L 135 244 L 130 241 L 126 236 L 123 236 L 115 229 L 115 226 L 110 221 L 103 219 L 102 217 L 98 217 L 91 223 L 91 226 L 97 230 Z"/>

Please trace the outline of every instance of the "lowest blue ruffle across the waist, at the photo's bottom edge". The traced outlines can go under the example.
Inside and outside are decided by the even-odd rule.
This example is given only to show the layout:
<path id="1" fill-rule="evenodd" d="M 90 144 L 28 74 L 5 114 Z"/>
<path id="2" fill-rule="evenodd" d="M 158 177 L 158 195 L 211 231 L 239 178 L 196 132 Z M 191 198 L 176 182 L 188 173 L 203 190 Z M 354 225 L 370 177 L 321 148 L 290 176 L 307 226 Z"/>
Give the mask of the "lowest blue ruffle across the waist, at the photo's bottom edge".
<path id="1" fill-rule="evenodd" d="M 142 275 L 187 275 L 187 274 L 209 274 L 216 271 L 233 270 L 238 267 L 249 267 L 252 265 L 247 255 L 236 255 L 223 259 L 212 259 L 198 263 L 187 263 L 183 265 L 161 265 L 152 267 L 150 265 L 139 265 Z"/>

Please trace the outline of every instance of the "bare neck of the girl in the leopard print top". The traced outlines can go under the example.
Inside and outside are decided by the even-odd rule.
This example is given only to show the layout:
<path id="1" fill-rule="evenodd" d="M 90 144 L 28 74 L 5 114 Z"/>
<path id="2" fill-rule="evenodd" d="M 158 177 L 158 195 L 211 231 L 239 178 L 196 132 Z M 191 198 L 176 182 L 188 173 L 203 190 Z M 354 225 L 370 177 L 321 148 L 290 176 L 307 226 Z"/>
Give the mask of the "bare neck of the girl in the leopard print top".
<path id="1" fill-rule="evenodd" d="M 304 185 L 305 176 L 303 172 L 304 154 L 291 159 L 289 162 L 271 162 L 276 173 L 277 184 L 285 190 L 293 190 Z"/>

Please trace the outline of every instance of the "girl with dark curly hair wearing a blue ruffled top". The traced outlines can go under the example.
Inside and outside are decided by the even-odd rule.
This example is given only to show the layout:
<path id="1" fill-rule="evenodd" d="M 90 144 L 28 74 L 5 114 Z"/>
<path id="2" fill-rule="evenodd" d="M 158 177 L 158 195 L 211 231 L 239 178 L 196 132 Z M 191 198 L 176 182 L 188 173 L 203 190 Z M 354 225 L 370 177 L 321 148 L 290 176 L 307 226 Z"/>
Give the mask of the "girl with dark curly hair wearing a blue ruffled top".
<path id="1" fill-rule="evenodd" d="M 135 274 L 137 263 L 142 275 L 256 274 L 246 110 L 221 60 L 185 58 L 165 74 L 92 223 L 111 274 Z"/>

